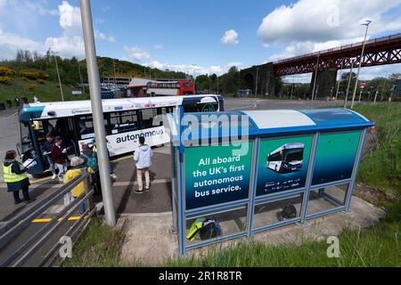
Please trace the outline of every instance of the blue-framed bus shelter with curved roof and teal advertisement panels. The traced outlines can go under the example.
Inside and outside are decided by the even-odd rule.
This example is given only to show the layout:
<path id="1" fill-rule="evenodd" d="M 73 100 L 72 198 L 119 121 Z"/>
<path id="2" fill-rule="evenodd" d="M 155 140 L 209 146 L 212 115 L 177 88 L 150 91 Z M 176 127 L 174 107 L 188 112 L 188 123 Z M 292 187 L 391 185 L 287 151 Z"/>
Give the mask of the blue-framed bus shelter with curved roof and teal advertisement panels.
<path id="1" fill-rule="evenodd" d="M 182 255 L 349 212 L 367 129 L 374 126 L 345 109 L 180 110 L 174 121 L 173 223 Z M 285 208 L 295 212 L 285 216 Z M 188 237 L 200 218 L 217 221 L 217 236 Z"/>

